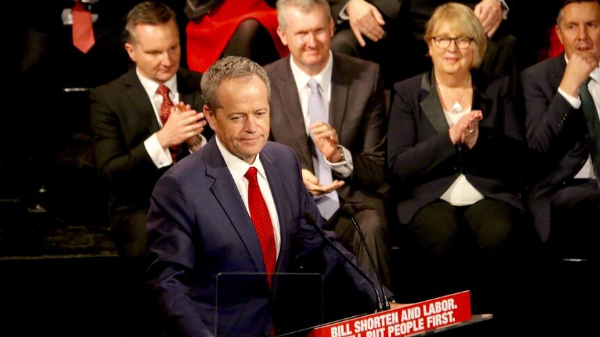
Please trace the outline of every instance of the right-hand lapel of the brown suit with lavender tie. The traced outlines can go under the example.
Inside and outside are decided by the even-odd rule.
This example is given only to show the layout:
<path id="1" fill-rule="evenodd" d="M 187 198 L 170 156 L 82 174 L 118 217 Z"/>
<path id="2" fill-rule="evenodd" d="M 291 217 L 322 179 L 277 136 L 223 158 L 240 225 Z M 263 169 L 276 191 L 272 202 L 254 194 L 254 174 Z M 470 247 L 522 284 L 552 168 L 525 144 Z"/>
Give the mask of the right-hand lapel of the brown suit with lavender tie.
<path id="1" fill-rule="evenodd" d="M 349 76 L 341 69 L 341 62 L 333 54 L 333 72 L 331 73 L 331 99 L 329 101 L 329 124 L 342 135 L 342 121 L 346 115 L 348 92 L 350 88 Z"/>

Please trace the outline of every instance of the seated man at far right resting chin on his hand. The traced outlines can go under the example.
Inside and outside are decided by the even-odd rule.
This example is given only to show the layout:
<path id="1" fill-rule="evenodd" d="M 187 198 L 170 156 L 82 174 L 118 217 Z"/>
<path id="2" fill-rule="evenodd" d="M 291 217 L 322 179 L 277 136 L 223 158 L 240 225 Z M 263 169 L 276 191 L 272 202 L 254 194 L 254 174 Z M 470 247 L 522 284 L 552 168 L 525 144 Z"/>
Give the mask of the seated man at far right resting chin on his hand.
<path id="1" fill-rule="evenodd" d="M 540 156 L 528 203 L 543 241 L 549 238 L 559 254 L 590 257 L 599 229 L 600 190 L 580 94 L 587 86 L 598 107 L 600 3 L 565 1 L 557 21 L 565 54 L 521 74 L 527 139 Z"/>

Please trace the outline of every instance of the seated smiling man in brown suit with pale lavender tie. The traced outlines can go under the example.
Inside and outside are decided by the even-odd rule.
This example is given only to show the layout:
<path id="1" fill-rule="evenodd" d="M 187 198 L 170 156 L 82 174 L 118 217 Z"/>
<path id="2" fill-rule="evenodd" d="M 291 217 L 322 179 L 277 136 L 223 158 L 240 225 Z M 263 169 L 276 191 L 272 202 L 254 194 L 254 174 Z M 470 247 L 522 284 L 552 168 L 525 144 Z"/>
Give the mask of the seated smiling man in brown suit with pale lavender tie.
<path id="1" fill-rule="evenodd" d="M 358 256 L 363 268 L 376 270 L 389 286 L 388 222 L 378 190 L 384 186 L 386 139 L 379 66 L 332 54 L 333 19 L 328 3 L 303 2 L 304 6 L 278 1 L 278 34 L 291 56 L 265 67 L 273 90 L 271 139 L 294 149 L 306 188 L 331 229 L 340 235 L 340 242 Z M 320 121 L 311 117 L 309 85 L 313 80 L 325 108 Z M 325 177 L 319 174 L 321 165 L 329 170 L 322 172 Z M 354 208 L 369 252 L 374 254 L 374 268 L 352 220 L 332 215 L 332 208 L 325 209 L 326 198 L 336 203 L 333 211 L 346 204 Z"/>

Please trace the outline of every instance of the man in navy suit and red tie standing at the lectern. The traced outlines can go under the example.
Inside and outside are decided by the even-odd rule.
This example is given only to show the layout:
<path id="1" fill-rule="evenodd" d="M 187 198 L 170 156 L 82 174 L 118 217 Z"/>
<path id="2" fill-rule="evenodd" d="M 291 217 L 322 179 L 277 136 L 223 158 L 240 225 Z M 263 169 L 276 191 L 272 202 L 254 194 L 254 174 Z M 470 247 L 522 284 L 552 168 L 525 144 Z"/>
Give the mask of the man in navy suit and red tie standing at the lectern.
<path id="1" fill-rule="evenodd" d="M 148 214 L 147 279 L 170 336 L 283 333 L 290 312 L 277 299 L 286 272 L 321 274 L 329 309 L 374 311 L 368 282 L 303 220 L 319 211 L 294 152 L 267 141 L 264 69 L 228 56 L 205 72 L 202 92 L 215 137 L 159 179 Z M 340 288 L 343 296 L 332 299 Z"/>

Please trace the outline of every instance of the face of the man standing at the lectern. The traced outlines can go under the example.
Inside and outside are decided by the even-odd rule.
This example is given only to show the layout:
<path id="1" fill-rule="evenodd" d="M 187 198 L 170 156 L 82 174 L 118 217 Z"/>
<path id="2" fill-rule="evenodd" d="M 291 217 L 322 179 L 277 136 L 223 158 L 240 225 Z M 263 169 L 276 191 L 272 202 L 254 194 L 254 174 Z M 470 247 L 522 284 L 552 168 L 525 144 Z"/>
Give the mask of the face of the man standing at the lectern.
<path id="1" fill-rule="evenodd" d="M 269 138 L 267 85 L 258 76 L 226 79 L 216 88 L 219 107 L 204 114 L 221 143 L 248 164 Z"/>

